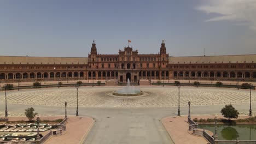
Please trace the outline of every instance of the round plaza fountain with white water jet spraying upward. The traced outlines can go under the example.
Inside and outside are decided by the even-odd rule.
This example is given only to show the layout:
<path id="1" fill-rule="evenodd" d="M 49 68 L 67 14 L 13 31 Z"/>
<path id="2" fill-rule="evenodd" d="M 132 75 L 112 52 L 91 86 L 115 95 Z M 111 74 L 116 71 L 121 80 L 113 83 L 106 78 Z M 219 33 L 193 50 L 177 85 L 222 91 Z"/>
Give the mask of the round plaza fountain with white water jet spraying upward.
<path id="1" fill-rule="evenodd" d="M 118 89 L 117 91 L 114 91 L 112 94 L 118 95 L 118 96 L 137 96 L 137 95 L 142 95 L 144 93 L 139 88 L 131 86 L 130 80 L 127 79 L 126 87 L 122 89 Z"/>

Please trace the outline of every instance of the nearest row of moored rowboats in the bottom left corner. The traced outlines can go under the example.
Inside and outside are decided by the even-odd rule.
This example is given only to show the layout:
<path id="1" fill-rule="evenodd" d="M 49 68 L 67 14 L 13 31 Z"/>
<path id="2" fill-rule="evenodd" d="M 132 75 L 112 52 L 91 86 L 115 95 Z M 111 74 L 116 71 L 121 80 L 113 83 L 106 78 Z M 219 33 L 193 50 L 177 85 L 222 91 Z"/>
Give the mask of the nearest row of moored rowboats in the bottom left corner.
<path id="1" fill-rule="evenodd" d="M 37 133 L 0 134 L 1 141 L 35 141 Z"/>

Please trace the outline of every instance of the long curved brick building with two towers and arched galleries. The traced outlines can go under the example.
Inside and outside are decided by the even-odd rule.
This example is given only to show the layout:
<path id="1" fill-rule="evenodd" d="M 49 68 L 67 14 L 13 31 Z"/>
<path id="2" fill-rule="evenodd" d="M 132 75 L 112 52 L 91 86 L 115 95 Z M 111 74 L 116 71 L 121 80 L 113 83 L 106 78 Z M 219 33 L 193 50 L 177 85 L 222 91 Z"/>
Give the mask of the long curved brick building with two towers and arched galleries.
<path id="1" fill-rule="evenodd" d="M 132 47 L 117 55 L 98 54 L 95 42 L 88 57 L 0 56 L 0 82 L 43 80 L 223 79 L 256 80 L 256 55 L 170 57 L 164 41 L 160 52 L 139 54 Z"/>

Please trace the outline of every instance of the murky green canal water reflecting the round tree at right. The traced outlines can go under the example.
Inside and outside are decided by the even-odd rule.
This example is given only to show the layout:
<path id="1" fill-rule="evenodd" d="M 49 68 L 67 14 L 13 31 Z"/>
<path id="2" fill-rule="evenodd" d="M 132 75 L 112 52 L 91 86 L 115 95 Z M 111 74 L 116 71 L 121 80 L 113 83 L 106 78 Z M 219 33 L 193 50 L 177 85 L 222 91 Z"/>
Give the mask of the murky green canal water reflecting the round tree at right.
<path id="1" fill-rule="evenodd" d="M 214 125 L 198 125 L 214 134 Z M 256 140 L 256 125 L 217 125 L 219 140 Z"/>

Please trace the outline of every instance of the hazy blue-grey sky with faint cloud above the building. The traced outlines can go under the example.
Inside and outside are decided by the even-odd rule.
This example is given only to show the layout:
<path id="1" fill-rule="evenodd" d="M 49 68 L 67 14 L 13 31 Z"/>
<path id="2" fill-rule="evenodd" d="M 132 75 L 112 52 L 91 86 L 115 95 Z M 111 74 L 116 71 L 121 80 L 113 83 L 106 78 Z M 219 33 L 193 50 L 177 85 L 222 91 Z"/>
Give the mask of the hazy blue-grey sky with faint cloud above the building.
<path id="1" fill-rule="evenodd" d="M 256 0 L 1 0 L 0 55 L 256 54 Z"/>

